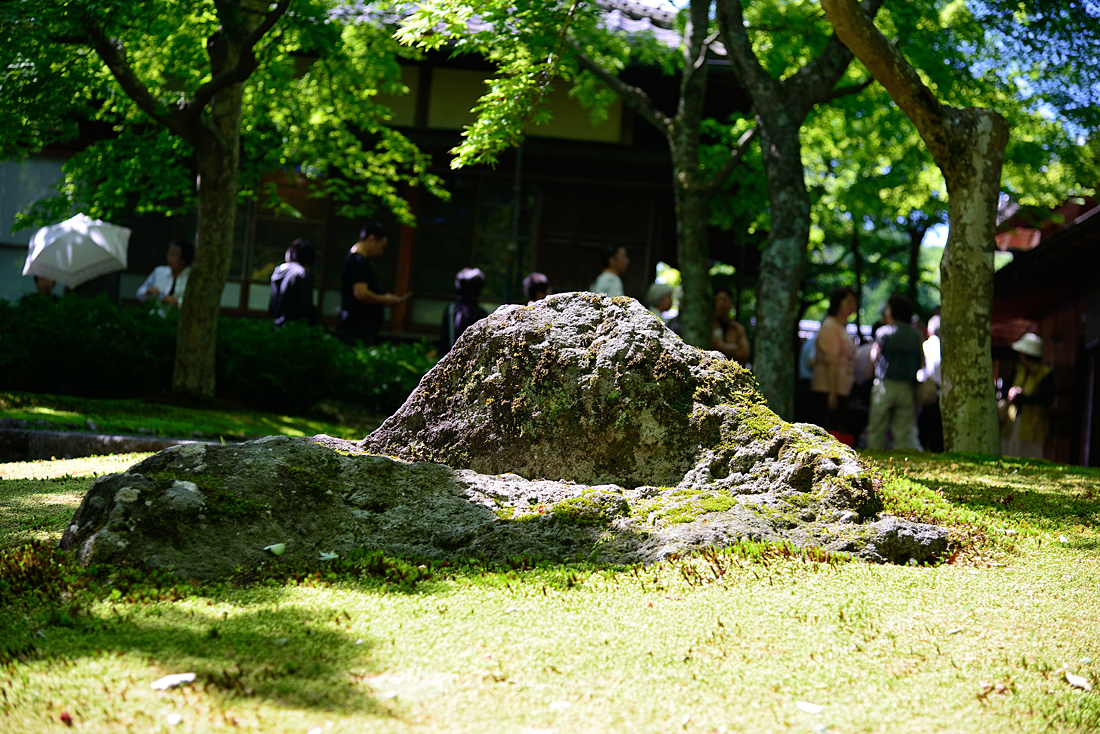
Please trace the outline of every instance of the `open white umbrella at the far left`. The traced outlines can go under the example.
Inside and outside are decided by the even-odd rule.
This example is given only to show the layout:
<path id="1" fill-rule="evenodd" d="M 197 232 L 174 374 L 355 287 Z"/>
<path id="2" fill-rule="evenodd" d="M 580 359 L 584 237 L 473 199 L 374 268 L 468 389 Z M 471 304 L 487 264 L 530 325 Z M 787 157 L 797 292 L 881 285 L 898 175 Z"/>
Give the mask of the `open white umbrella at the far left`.
<path id="1" fill-rule="evenodd" d="M 130 230 L 85 215 L 43 227 L 26 252 L 23 275 L 41 275 L 70 288 L 125 270 Z"/>

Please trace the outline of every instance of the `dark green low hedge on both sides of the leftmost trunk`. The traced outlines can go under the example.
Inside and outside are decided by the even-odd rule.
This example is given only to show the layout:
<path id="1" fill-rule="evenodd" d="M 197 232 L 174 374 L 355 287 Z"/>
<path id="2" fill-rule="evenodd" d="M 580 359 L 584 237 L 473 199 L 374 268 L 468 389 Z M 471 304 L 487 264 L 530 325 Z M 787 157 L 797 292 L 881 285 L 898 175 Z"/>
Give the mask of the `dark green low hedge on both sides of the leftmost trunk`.
<path id="1" fill-rule="evenodd" d="M 175 348 L 176 321 L 152 308 L 120 308 L 105 296 L 0 300 L 0 390 L 87 397 L 163 393 Z M 300 322 L 273 329 L 266 320 L 222 317 L 219 395 L 287 413 L 332 397 L 388 414 L 435 364 L 428 354 L 422 343 L 350 348 Z"/>

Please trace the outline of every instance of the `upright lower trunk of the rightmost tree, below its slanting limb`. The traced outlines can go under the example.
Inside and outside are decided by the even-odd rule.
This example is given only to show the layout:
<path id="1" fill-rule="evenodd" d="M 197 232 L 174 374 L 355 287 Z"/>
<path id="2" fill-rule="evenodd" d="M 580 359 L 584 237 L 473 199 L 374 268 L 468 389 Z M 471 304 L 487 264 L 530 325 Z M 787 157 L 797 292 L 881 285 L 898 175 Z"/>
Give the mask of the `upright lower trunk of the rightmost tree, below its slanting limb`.
<path id="1" fill-rule="evenodd" d="M 1009 128 L 1001 116 L 971 108 L 948 116 L 966 153 L 944 168 L 947 248 L 939 263 L 944 386 L 941 414 L 948 451 L 1000 453 L 993 388 L 991 313 L 993 238 Z"/>

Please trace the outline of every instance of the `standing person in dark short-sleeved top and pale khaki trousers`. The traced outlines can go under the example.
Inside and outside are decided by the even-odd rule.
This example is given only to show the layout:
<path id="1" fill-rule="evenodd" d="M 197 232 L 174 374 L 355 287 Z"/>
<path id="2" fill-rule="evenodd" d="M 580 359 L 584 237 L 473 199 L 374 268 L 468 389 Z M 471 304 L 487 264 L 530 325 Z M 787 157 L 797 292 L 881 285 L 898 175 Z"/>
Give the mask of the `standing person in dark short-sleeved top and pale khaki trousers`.
<path id="1" fill-rule="evenodd" d="M 895 449 L 920 449 L 913 424 L 916 401 L 916 373 L 924 365 L 921 335 L 910 326 L 913 303 L 894 294 L 882 309 L 886 324 L 875 335 L 871 360 L 875 385 L 871 387 L 871 415 L 867 427 L 867 448 L 886 447 L 887 426 L 893 434 Z"/>

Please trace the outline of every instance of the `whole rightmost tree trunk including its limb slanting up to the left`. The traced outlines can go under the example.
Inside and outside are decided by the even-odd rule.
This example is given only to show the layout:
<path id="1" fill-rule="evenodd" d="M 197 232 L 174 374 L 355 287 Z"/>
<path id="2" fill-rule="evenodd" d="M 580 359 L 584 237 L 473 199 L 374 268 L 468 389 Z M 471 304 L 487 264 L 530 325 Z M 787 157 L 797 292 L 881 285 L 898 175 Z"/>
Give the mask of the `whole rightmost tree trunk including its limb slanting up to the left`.
<path id="1" fill-rule="evenodd" d="M 948 194 L 947 248 L 939 264 L 944 446 L 948 451 L 1000 453 L 990 313 L 1009 125 L 991 110 L 942 105 L 854 0 L 822 0 L 822 9 L 840 40 L 913 121 L 944 174 Z"/>

